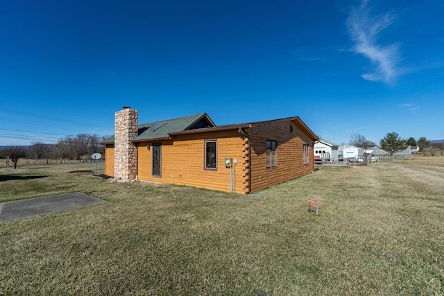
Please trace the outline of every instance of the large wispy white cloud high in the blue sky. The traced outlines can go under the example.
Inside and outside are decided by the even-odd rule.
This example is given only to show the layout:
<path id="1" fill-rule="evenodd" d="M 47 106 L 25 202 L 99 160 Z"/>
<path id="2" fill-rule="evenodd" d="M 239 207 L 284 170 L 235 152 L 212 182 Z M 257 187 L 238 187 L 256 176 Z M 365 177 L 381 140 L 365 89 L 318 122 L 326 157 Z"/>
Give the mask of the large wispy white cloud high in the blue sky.
<path id="1" fill-rule="evenodd" d="M 352 8 L 347 19 L 350 38 L 355 42 L 352 50 L 368 58 L 373 69 L 370 73 L 364 73 L 362 78 L 370 81 L 382 81 L 393 85 L 400 69 L 400 50 L 398 44 L 382 46 L 377 44 L 377 35 L 385 28 L 393 24 L 396 16 L 393 13 L 371 16 L 368 0 L 361 1 L 361 5 Z"/>

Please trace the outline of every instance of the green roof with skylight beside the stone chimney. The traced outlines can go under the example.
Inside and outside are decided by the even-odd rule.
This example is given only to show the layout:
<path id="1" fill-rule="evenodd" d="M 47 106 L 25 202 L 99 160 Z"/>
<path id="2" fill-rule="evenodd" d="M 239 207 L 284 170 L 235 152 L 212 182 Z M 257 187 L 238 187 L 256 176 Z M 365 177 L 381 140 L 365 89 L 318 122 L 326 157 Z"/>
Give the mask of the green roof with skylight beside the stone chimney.
<path id="1" fill-rule="evenodd" d="M 138 126 L 139 132 L 133 138 L 133 141 L 165 139 L 173 132 L 182 132 L 183 130 L 194 128 L 207 128 L 210 126 L 215 125 L 206 113 L 179 117 L 177 119 L 144 123 Z M 114 136 L 105 139 L 103 143 L 114 143 Z"/>

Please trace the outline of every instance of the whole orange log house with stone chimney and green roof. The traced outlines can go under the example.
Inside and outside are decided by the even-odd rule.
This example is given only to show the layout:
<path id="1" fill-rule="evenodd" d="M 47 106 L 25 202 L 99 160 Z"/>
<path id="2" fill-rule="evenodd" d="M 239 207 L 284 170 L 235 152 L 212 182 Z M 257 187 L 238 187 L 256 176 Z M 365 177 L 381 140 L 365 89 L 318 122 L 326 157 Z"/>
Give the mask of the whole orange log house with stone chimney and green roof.
<path id="1" fill-rule="evenodd" d="M 298 117 L 216 126 L 206 114 L 138 124 L 137 110 L 115 114 L 103 141 L 105 175 L 240 194 L 314 171 L 318 140 Z"/>

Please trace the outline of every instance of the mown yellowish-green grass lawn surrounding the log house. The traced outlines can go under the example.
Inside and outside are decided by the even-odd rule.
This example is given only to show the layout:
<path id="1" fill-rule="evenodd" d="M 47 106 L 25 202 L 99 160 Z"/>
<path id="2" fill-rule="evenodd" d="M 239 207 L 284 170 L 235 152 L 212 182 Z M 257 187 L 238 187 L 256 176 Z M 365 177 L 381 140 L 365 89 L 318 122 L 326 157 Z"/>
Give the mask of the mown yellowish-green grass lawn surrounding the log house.
<path id="1" fill-rule="evenodd" d="M 0 295 L 444 295 L 444 157 L 324 167 L 255 195 L 67 174 L 88 169 L 0 168 L 0 202 L 106 201 L 0 223 Z"/>

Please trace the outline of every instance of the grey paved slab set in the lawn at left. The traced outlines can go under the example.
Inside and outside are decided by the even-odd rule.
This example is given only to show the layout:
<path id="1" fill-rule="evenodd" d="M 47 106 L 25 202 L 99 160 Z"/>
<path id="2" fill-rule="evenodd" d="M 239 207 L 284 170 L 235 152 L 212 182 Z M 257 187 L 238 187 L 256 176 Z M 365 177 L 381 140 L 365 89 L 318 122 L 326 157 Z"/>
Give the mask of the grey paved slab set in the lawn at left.
<path id="1" fill-rule="evenodd" d="M 28 218 L 38 215 L 51 214 L 57 211 L 79 209 L 94 204 L 102 204 L 105 200 L 99 200 L 83 193 L 67 193 L 44 198 L 30 198 L 28 200 L 15 200 L 13 202 L 0 203 L 0 223 Z"/>

